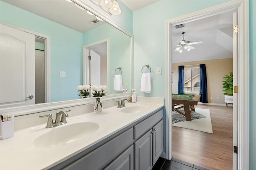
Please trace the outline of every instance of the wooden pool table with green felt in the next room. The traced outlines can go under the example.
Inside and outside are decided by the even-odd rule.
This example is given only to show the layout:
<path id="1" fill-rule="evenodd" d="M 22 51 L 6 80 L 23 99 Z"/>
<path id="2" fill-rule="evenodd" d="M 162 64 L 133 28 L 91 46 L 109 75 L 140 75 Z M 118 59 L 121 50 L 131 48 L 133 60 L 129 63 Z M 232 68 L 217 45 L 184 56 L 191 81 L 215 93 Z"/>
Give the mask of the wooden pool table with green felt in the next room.
<path id="1" fill-rule="evenodd" d="M 195 105 L 198 104 L 201 95 L 198 94 L 172 94 L 172 110 L 177 111 L 186 117 L 186 121 L 191 121 L 191 112 L 195 111 Z M 183 106 L 174 108 L 174 106 L 182 104 Z M 184 108 L 185 113 L 178 109 Z"/>

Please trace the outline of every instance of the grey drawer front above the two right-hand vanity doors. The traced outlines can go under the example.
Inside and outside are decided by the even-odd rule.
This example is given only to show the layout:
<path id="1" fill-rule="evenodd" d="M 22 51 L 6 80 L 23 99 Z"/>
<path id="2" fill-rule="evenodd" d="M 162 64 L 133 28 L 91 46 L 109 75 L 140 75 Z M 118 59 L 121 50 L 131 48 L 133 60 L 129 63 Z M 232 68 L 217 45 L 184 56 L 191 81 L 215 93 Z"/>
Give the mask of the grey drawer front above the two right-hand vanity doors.
<path id="1" fill-rule="evenodd" d="M 146 120 L 138 123 L 134 126 L 134 139 L 138 139 L 141 135 L 146 133 L 151 129 L 156 123 L 158 123 L 163 118 L 163 109 L 155 113 L 154 115 L 148 117 Z"/>

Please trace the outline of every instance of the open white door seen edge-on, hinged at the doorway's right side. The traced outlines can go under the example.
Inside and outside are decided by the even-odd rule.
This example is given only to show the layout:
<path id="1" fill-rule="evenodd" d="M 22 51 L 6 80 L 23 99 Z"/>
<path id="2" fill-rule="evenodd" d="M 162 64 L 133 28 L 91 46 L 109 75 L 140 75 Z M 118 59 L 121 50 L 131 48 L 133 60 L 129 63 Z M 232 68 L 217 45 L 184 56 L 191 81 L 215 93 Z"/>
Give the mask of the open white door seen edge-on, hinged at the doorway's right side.
<path id="1" fill-rule="evenodd" d="M 238 12 L 233 12 L 233 27 L 238 25 Z M 233 86 L 238 86 L 238 33 L 233 33 Z M 234 89 L 233 89 L 234 90 Z M 238 93 L 233 91 L 233 146 L 238 147 Z M 233 170 L 238 167 L 238 154 L 233 151 Z"/>

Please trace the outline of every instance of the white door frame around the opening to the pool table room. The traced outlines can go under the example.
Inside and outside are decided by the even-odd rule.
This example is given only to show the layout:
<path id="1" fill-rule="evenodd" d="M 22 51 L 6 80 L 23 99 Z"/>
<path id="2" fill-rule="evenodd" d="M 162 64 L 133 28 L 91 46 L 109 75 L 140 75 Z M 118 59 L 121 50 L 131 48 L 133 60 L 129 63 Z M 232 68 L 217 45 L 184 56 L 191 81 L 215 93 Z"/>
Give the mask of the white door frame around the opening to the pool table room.
<path id="1" fill-rule="evenodd" d="M 225 11 L 238 10 L 238 162 L 233 162 L 238 166 L 233 169 L 249 169 L 249 2 L 248 0 L 228 1 L 210 8 L 205 8 L 190 14 L 185 14 L 166 21 L 166 159 L 172 158 L 172 92 L 171 72 L 172 72 L 172 24 L 205 18 Z M 233 160 L 234 161 L 234 160 Z"/>

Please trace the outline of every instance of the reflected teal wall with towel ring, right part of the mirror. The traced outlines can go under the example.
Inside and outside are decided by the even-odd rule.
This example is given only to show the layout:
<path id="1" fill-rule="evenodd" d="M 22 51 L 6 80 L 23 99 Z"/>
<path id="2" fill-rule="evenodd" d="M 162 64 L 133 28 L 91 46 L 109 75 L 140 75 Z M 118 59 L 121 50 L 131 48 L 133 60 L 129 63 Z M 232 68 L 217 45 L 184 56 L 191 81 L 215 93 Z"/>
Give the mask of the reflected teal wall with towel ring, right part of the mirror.
<path id="1" fill-rule="evenodd" d="M 122 68 L 122 83 L 123 87 L 125 83 L 128 83 L 129 92 L 131 90 L 131 38 L 119 31 L 118 29 L 112 27 L 108 23 L 100 25 L 94 29 L 84 32 L 83 43 L 88 45 L 90 43 L 95 43 L 103 39 L 109 39 L 109 72 L 115 70 L 118 67 Z M 129 64 L 127 64 L 129 63 Z M 119 74 L 119 72 L 116 72 Z M 103 84 L 102 84 L 103 85 Z M 114 77 L 109 77 L 109 94 L 121 94 L 122 92 L 114 91 Z"/>

